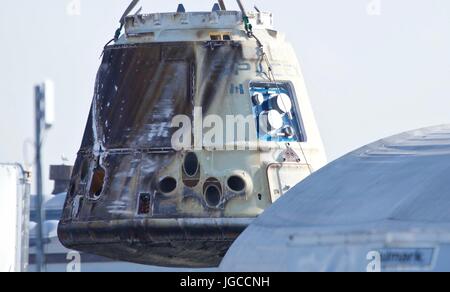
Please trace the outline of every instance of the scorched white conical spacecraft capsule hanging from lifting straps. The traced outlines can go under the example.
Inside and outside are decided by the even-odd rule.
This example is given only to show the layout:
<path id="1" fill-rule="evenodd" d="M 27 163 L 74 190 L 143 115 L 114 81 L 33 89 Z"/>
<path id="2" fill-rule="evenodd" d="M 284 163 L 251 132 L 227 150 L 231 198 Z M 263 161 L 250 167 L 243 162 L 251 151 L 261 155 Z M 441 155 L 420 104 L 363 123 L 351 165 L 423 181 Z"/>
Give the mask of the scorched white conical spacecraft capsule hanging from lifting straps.
<path id="1" fill-rule="evenodd" d="M 103 52 L 59 224 L 66 247 L 217 266 L 286 186 L 325 164 L 295 53 L 271 13 L 245 15 L 216 7 L 124 18 L 125 33 Z M 260 129 L 267 111 L 288 134 Z"/>

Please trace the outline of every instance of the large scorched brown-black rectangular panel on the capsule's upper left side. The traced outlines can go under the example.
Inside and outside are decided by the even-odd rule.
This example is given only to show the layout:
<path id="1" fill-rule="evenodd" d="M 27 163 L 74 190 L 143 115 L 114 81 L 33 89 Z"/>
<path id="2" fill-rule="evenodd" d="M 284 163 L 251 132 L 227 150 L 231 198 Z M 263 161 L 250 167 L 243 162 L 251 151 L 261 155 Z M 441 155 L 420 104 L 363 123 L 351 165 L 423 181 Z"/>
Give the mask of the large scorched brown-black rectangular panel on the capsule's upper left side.
<path id="1" fill-rule="evenodd" d="M 105 51 L 97 113 L 107 148 L 170 146 L 171 118 L 192 114 L 192 59 L 193 47 L 186 44 Z M 158 136 L 158 125 L 169 135 Z"/>

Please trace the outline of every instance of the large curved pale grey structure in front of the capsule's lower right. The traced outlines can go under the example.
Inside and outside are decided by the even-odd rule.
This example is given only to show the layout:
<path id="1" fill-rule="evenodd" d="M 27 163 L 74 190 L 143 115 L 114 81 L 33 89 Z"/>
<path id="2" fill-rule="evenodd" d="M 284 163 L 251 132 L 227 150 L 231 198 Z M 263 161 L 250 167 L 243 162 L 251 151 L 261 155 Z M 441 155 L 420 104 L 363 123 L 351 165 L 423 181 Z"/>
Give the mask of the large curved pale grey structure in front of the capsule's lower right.
<path id="1" fill-rule="evenodd" d="M 450 271 L 450 125 L 365 146 L 293 188 L 224 271 Z"/>

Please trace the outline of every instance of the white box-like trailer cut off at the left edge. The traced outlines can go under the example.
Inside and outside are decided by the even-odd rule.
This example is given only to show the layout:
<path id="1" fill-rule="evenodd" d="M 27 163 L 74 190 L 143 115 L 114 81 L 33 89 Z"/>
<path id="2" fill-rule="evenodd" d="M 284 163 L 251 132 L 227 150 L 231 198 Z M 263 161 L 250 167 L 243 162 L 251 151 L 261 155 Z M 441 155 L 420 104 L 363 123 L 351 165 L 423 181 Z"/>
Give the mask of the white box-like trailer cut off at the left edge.
<path id="1" fill-rule="evenodd" d="M 29 201 L 29 173 L 0 164 L 0 272 L 27 270 Z"/>

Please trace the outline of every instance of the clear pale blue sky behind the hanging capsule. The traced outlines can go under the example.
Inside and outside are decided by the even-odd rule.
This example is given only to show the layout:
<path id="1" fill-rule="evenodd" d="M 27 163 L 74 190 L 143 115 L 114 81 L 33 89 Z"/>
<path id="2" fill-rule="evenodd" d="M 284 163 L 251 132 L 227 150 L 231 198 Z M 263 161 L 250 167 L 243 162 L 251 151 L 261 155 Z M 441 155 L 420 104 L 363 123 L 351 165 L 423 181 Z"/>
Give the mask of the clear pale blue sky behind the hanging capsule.
<path id="1" fill-rule="evenodd" d="M 72 1 L 1 3 L 1 162 L 33 160 L 23 145 L 33 138 L 33 85 L 45 78 L 57 93 L 45 172 L 62 154 L 75 159 L 102 47 L 130 1 L 80 0 L 81 14 L 70 16 Z M 367 6 L 374 1 L 244 0 L 274 12 L 276 28 L 293 43 L 330 160 L 387 135 L 450 123 L 450 1 L 381 0 L 373 16 Z M 183 1 L 197 11 L 213 2 Z M 145 12 L 177 4 L 142 1 Z"/>

